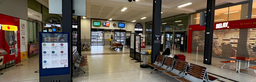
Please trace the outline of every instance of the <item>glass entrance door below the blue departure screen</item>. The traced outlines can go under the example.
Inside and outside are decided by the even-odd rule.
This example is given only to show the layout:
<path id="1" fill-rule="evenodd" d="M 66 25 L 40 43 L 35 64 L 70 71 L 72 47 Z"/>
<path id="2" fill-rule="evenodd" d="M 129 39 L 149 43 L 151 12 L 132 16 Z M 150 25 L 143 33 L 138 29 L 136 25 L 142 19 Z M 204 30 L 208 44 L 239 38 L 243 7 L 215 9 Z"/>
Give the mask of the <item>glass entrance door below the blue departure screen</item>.
<path id="1" fill-rule="evenodd" d="M 125 45 L 125 32 L 115 32 L 115 40 Z"/>

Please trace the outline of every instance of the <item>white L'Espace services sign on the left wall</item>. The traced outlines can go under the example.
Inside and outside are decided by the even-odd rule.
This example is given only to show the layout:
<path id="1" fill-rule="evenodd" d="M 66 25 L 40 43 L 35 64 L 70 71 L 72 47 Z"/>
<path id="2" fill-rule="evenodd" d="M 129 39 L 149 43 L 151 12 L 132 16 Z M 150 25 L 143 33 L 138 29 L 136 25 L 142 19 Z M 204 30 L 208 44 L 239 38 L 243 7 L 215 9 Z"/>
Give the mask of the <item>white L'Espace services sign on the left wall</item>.
<path id="1" fill-rule="evenodd" d="M 29 8 L 27 8 L 27 16 L 29 18 L 33 18 L 33 19 L 42 21 L 42 14 L 35 10 L 29 9 Z"/>

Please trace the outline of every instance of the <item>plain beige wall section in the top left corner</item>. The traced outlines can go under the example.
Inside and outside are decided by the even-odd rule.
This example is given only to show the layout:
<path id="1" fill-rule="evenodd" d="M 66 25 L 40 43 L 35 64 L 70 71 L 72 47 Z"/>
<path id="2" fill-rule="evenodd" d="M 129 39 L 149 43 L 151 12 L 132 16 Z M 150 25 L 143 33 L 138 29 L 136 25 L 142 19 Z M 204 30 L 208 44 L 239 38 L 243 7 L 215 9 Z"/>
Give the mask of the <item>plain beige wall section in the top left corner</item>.
<path id="1" fill-rule="evenodd" d="M 0 13 L 27 20 L 27 0 L 0 0 Z"/>

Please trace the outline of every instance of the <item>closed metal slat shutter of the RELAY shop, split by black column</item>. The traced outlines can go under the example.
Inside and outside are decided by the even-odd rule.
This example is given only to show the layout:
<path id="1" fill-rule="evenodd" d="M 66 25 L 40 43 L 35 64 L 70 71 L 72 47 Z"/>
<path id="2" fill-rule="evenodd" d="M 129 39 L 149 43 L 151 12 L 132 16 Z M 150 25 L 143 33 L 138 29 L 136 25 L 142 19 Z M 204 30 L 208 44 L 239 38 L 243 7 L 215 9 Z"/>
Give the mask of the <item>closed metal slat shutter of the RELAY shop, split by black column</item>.
<path id="1" fill-rule="evenodd" d="M 205 31 L 192 31 L 192 33 L 192 49 L 196 50 L 195 45 L 204 46 Z M 204 50 L 204 47 L 198 47 L 198 50 Z M 203 51 L 198 51 L 198 54 L 203 54 Z M 256 58 L 256 28 L 214 30 L 212 55 Z"/>

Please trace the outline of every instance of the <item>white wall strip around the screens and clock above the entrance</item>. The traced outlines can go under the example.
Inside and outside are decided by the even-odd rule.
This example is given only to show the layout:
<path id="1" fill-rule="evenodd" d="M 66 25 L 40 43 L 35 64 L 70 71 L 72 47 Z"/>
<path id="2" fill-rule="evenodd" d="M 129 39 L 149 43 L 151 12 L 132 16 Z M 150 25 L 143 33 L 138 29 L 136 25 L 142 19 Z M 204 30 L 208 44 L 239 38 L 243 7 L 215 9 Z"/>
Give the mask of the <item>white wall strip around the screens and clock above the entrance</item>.
<path id="1" fill-rule="evenodd" d="M 95 27 L 93 26 L 93 21 L 99 21 L 101 22 L 101 26 L 100 27 Z M 110 23 L 109 24 L 109 27 L 105 27 L 103 26 L 103 22 L 107 22 L 107 23 Z M 118 28 L 118 22 L 120 21 L 106 21 L 106 20 L 92 20 L 91 21 L 91 24 L 92 24 L 92 28 L 93 29 L 116 29 L 116 30 L 125 30 L 125 28 L 127 28 L 127 24 L 125 24 L 125 28 Z M 116 24 L 116 26 L 113 26 L 113 24 Z M 122 23 L 126 23 L 126 22 L 122 22 Z"/>

